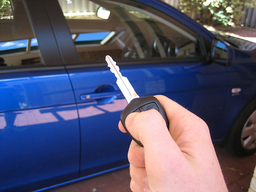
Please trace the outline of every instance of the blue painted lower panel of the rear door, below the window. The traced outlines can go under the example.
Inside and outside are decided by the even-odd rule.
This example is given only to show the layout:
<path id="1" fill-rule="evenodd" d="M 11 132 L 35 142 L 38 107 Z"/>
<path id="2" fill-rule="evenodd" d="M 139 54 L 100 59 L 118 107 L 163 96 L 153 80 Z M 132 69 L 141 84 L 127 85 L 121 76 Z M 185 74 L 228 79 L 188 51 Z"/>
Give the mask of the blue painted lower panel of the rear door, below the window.
<path id="1" fill-rule="evenodd" d="M 66 71 L 0 74 L 0 95 L 0 191 L 76 178 L 79 124 Z"/>

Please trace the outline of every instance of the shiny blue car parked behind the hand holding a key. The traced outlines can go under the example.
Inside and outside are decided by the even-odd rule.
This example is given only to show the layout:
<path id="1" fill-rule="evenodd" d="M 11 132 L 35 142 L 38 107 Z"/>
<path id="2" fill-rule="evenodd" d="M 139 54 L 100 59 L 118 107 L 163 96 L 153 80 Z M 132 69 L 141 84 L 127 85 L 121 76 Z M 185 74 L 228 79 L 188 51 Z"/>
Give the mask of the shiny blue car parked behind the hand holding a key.
<path id="1" fill-rule="evenodd" d="M 106 55 L 141 97 L 165 95 L 201 117 L 214 143 L 255 152 L 254 44 L 159 0 L 12 0 L 0 12 L 1 192 L 128 166 L 131 138 L 117 128 L 127 102 Z"/>

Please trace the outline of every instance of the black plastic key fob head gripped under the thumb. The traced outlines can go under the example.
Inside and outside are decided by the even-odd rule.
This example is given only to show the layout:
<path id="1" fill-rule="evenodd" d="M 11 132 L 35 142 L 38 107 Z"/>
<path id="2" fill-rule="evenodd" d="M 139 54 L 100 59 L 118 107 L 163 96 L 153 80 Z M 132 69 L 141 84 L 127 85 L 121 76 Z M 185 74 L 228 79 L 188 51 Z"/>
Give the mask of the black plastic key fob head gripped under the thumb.
<path id="1" fill-rule="evenodd" d="M 148 97 L 140 97 L 135 98 L 131 100 L 131 102 L 124 108 L 124 110 L 121 113 L 120 119 L 121 123 L 124 126 L 124 129 L 126 132 L 130 135 L 130 137 L 141 147 L 143 147 L 142 143 L 139 140 L 136 140 L 130 132 L 125 127 L 125 119 L 126 117 L 133 112 L 142 112 L 142 111 L 148 111 L 150 109 L 156 109 L 164 118 L 166 126 L 169 130 L 169 121 L 167 119 L 167 116 L 165 114 L 164 108 L 160 104 L 160 102 L 156 99 L 154 96 L 148 96 Z"/>

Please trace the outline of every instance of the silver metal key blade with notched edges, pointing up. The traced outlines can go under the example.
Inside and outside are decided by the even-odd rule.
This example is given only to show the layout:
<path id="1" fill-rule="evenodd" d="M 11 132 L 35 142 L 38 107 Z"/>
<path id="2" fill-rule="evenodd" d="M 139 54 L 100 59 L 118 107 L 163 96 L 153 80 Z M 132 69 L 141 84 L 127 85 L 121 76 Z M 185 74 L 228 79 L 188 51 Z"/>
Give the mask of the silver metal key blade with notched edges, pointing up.
<path id="1" fill-rule="evenodd" d="M 127 103 L 130 103 L 130 101 L 134 98 L 139 98 L 139 95 L 134 91 L 127 77 L 122 76 L 120 73 L 119 67 L 116 65 L 116 62 L 112 59 L 112 57 L 107 55 L 106 61 L 108 63 L 108 67 L 110 67 L 110 71 L 115 74 L 117 78 L 116 84 L 124 94 Z"/>

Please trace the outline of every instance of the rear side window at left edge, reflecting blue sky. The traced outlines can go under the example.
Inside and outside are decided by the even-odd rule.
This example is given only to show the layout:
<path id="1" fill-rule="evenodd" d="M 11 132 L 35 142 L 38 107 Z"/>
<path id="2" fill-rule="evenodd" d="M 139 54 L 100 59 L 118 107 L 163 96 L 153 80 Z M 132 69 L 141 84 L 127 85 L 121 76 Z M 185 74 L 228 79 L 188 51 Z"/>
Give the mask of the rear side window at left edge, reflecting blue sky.
<path id="1" fill-rule="evenodd" d="M 0 69 L 42 64 L 38 43 L 22 0 L 2 1 L 0 7 Z"/>

